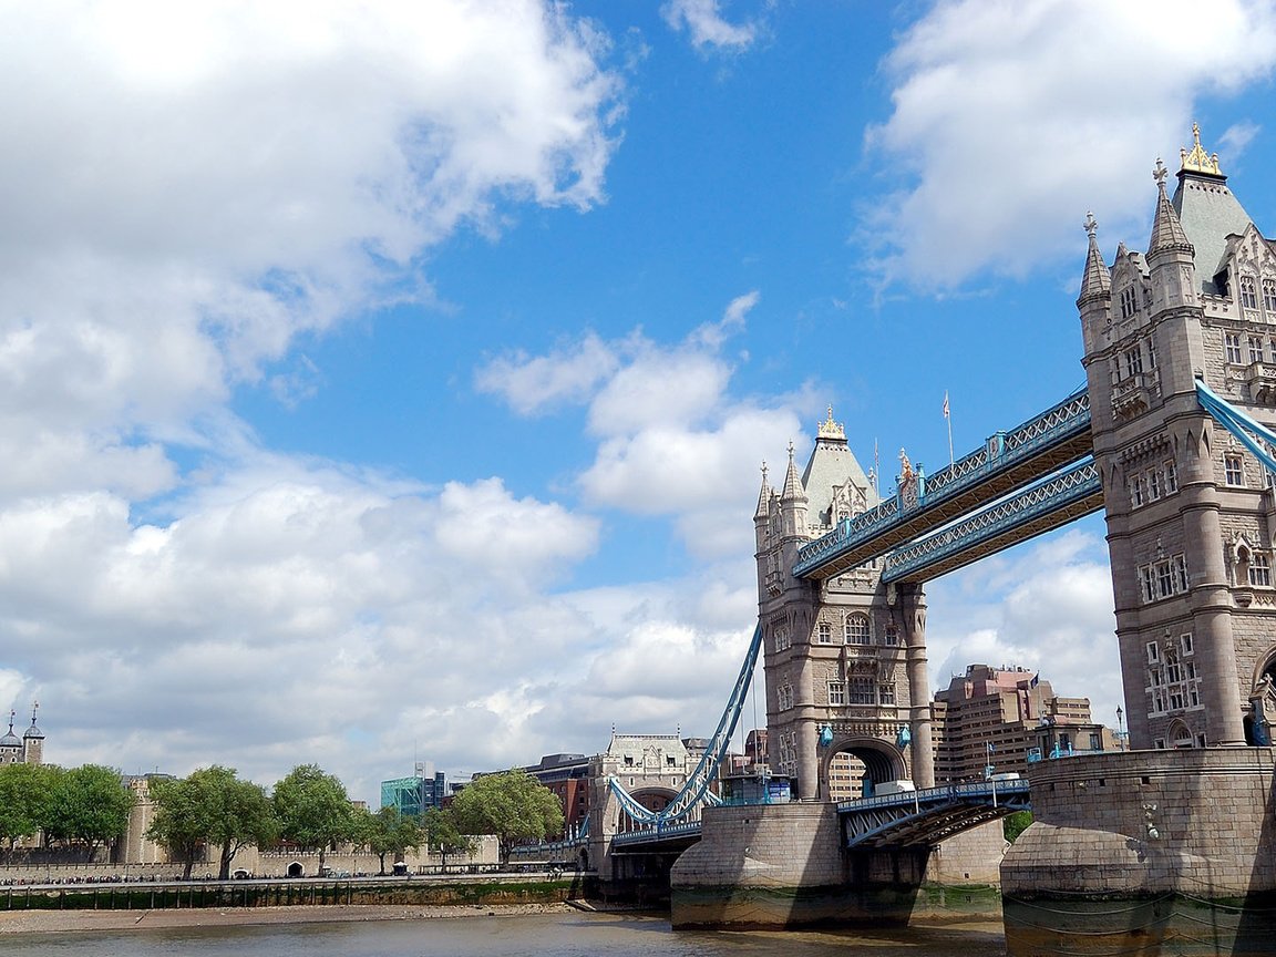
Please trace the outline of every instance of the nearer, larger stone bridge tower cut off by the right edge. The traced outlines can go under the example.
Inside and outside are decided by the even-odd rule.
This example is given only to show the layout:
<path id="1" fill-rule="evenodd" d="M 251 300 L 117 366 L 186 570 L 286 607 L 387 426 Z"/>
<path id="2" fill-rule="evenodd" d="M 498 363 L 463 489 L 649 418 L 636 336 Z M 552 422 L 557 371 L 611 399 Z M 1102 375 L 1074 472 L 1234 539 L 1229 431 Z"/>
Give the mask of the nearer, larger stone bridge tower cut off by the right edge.
<path id="1" fill-rule="evenodd" d="M 1276 419 L 1276 250 L 1193 139 L 1146 254 L 1108 267 L 1087 218 L 1077 300 L 1134 748 L 1265 744 L 1276 713 L 1276 498 L 1196 393 Z"/>

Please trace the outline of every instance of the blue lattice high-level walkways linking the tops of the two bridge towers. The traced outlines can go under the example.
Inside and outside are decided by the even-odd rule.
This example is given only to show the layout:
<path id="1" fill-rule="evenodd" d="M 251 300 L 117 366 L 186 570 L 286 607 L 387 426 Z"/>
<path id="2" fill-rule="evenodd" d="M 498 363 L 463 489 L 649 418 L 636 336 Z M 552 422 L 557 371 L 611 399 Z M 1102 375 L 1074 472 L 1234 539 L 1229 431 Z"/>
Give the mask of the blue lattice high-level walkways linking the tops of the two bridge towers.
<path id="1" fill-rule="evenodd" d="M 1004 505 L 1002 499 L 1032 485 L 1045 485 L 1042 477 L 1073 466 L 1094 453 L 1090 435 L 1090 394 L 1079 390 L 1063 402 L 1048 408 L 1022 425 L 993 435 L 977 452 L 961 458 L 933 476 L 919 478 L 919 501 L 905 508 L 901 496 L 893 495 L 875 508 L 845 519 L 828 535 L 804 545 L 798 551 L 794 574 L 803 578 L 827 579 L 882 558 L 896 549 L 923 537 L 933 537 L 937 530 L 971 516 Z M 1076 487 L 1072 489 L 1073 493 Z M 1031 490 L 1030 490 L 1031 491 Z M 957 560 L 961 547 L 948 550 L 952 570 L 976 558 L 1004 547 L 1013 541 L 1023 541 L 1050 528 L 1065 524 L 1082 514 L 1096 512 L 1102 505 L 1102 493 L 1097 476 L 1090 481 L 1087 493 L 1079 500 L 1058 499 L 1058 514 L 1049 507 L 1040 507 L 1032 519 L 1031 531 L 1025 526 L 1007 530 L 995 538 L 984 540 L 977 553 Z M 988 503 L 997 503 L 988 507 Z M 1003 509 L 1004 512 L 1004 509 Z M 1004 522 L 1003 522 L 1004 524 Z M 985 528 L 985 532 L 990 531 Z M 967 545 L 975 545 L 968 540 Z M 994 547 L 995 545 L 995 547 Z M 923 573 L 934 577 L 934 563 L 917 563 L 907 572 L 883 573 L 886 581 L 914 581 Z"/>

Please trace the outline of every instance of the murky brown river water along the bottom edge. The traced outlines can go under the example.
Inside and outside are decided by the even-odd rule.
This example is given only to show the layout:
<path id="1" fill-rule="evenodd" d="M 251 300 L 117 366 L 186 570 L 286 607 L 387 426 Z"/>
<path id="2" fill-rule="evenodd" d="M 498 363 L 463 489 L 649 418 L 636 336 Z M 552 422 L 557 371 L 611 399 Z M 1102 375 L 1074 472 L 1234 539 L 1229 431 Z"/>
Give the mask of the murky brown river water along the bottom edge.
<path id="1" fill-rule="evenodd" d="M 674 931 L 660 917 L 546 914 L 0 937 L 9 957 L 995 957 L 986 929 Z"/>

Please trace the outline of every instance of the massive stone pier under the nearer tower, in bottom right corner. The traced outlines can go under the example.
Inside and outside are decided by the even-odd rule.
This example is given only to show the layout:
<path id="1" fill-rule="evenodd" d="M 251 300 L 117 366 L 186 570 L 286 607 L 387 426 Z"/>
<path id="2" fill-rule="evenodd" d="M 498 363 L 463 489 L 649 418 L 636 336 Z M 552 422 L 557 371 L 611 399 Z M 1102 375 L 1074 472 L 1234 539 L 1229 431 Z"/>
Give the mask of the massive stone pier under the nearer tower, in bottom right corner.
<path id="1" fill-rule="evenodd" d="M 1032 766 L 1035 823 L 1002 861 L 1007 953 L 1271 953 L 1273 764 L 1208 748 Z"/>

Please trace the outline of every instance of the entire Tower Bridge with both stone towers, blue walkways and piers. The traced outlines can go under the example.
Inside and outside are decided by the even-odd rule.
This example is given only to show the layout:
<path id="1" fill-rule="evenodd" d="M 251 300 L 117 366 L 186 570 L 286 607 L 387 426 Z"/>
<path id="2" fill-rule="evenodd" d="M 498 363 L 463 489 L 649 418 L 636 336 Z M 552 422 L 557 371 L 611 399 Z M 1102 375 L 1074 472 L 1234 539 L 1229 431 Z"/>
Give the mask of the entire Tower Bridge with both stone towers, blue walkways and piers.
<path id="1" fill-rule="evenodd" d="M 1193 139 L 1173 198 L 1156 163 L 1146 253 L 1122 242 L 1109 265 L 1087 217 L 1083 390 L 933 476 L 901 452 L 884 499 L 832 410 L 805 468 L 790 447 L 780 487 L 763 470 L 749 655 L 768 764 L 798 800 L 703 810 L 672 870 L 675 924 L 846 916 L 849 887 L 930 879 L 949 835 L 1003 812 L 935 787 L 924 582 L 1100 509 L 1133 750 L 1034 766 L 1037 823 L 1000 865 L 1007 901 L 1276 897 L 1276 242 Z M 917 795 L 837 808 L 838 754 Z M 1239 948 L 1253 923 L 1229 931 L 1211 914 L 1208 952 Z M 1007 920 L 1011 953 L 1065 948 L 1040 915 L 1013 934 Z"/>

